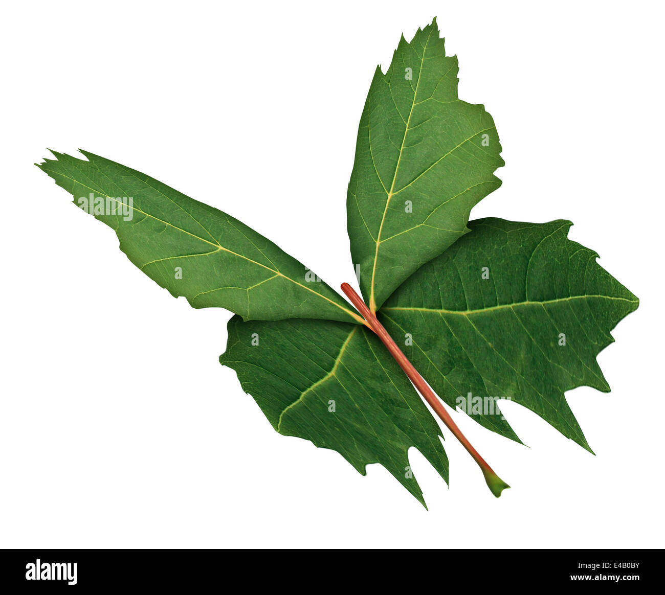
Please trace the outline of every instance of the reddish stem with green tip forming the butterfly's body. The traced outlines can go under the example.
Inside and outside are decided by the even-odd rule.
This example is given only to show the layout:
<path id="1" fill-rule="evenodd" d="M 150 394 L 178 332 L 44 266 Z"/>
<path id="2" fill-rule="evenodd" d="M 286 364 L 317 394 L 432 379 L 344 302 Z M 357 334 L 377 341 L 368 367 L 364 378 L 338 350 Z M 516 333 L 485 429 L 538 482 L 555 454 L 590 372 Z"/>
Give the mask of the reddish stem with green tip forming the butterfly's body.
<path id="1" fill-rule="evenodd" d="M 466 439 L 466 436 L 462 433 L 457 424 L 452 420 L 452 417 L 444 409 L 442 402 L 439 398 L 432 392 L 432 389 L 427 385 L 424 378 L 420 376 L 418 370 L 414 368 L 413 364 L 406 359 L 402 350 L 397 346 L 396 342 L 392 340 L 392 337 L 388 334 L 388 331 L 384 326 L 378 321 L 378 318 L 374 313 L 367 307 L 362 298 L 354 291 L 354 289 L 348 285 L 348 283 L 342 283 L 342 291 L 346 296 L 351 300 L 351 303 L 356 306 L 358 312 L 362 314 L 364 319 L 367 322 L 367 326 L 371 328 L 376 336 L 380 338 L 383 344 L 388 348 L 390 354 L 395 358 L 395 361 L 400 365 L 400 368 L 404 370 L 406 376 L 409 377 L 414 386 L 420 391 L 423 398 L 428 402 L 430 407 L 436 412 L 436 414 L 442 419 L 446 424 L 446 427 L 452 431 L 453 435 L 462 443 L 462 446 L 466 448 L 467 452 L 473 460 L 478 463 L 481 471 L 483 472 L 483 477 L 485 477 L 485 482 L 487 487 L 491 490 L 491 493 L 497 498 L 501 495 L 501 491 L 510 487 L 505 481 L 499 478 L 499 476 L 492 471 L 491 467 L 487 465 L 485 459 L 478 454 L 478 451 L 471 446 L 471 443 Z"/>

